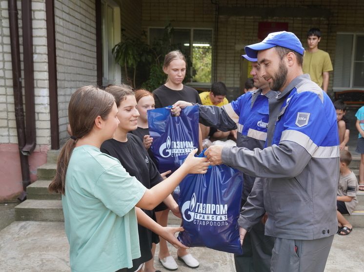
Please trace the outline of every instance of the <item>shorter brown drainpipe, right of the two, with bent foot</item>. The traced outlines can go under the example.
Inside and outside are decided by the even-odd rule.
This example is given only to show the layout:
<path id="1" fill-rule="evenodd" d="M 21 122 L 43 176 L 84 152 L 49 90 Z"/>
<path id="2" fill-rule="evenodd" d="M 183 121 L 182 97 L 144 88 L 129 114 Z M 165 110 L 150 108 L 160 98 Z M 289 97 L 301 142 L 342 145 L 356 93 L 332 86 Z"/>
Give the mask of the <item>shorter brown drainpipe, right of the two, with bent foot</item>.
<path id="1" fill-rule="evenodd" d="M 25 135 L 26 143 L 21 153 L 29 156 L 36 147 L 36 116 L 34 101 L 34 68 L 33 68 L 33 30 L 32 1 L 21 1 L 21 18 L 23 26 L 23 64 L 25 92 Z"/>

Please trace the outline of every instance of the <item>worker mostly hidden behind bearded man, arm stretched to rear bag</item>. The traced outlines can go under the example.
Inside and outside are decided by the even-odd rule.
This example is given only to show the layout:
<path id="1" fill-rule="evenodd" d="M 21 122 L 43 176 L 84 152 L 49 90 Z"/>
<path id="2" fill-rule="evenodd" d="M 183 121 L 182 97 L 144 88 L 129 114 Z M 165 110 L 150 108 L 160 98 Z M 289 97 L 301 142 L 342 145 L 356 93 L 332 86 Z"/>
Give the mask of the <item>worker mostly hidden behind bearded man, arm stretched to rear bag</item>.
<path id="1" fill-rule="evenodd" d="M 268 82 L 259 75 L 259 65 L 256 58 L 242 55 L 244 59 L 252 62 L 250 75 L 253 76 L 254 86 L 258 90 L 248 91 L 235 101 L 223 107 L 199 106 L 200 123 L 205 126 L 215 127 L 222 131 L 238 129 L 237 146 L 250 150 L 263 148 L 267 137 L 269 121 L 269 99 L 275 99 L 278 91 L 271 91 Z M 174 110 L 181 109 L 191 103 L 178 101 L 174 104 Z M 244 186 L 242 194 L 242 206 L 246 202 L 253 183 L 254 175 L 242 173 Z M 269 272 L 270 259 L 274 245 L 274 238 L 264 235 L 264 224 L 260 220 L 246 235 L 242 248 L 242 255 L 234 255 L 237 272 Z"/>

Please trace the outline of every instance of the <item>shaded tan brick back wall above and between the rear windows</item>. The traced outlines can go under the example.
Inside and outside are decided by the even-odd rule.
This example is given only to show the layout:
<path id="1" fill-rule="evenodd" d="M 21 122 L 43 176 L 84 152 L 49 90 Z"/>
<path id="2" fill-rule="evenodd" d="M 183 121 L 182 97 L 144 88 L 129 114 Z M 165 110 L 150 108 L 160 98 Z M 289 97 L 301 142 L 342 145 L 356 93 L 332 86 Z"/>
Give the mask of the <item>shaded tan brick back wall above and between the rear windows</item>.
<path id="1" fill-rule="evenodd" d="M 357 0 L 220 0 L 216 52 L 217 78 L 231 90 L 229 98 L 240 94 L 242 78 L 246 77 L 247 63 L 243 62 L 245 45 L 259 42 L 258 23 L 287 22 L 288 31 L 295 33 L 306 47 L 306 33 L 312 27 L 322 31 L 319 48 L 335 59 L 337 32 L 364 32 L 364 2 Z M 225 9 L 225 11 L 223 11 Z M 226 9 L 228 10 L 226 12 Z M 309 14 L 319 10 L 318 16 Z M 289 10 L 294 12 L 289 13 Z M 249 12 L 247 12 L 249 11 Z M 308 11 L 308 13 L 307 13 Z M 214 28 L 215 6 L 209 0 L 143 0 L 142 25 L 173 27 Z M 243 75 L 242 75 L 243 74 Z M 332 89 L 333 73 L 330 73 L 329 91 Z"/>

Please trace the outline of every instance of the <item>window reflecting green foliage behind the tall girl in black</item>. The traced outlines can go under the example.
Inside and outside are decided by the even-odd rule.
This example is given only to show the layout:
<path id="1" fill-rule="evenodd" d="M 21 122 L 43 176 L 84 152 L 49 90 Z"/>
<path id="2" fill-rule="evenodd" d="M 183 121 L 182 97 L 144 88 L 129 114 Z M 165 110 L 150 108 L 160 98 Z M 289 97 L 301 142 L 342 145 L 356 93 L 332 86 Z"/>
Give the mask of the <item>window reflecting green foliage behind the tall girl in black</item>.
<path id="1" fill-rule="evenodd" d="M 163 28 L 149 29 L 149 43 L 154 39 L 162 38 Z M 174 28 L 172 44 L 178 44 L 182 51 L 192 61 L 192 67 L 188 68 L 190 82 L 211 83 L 212 72 L 212 30 L 211 29 L 187 29 Z"/>

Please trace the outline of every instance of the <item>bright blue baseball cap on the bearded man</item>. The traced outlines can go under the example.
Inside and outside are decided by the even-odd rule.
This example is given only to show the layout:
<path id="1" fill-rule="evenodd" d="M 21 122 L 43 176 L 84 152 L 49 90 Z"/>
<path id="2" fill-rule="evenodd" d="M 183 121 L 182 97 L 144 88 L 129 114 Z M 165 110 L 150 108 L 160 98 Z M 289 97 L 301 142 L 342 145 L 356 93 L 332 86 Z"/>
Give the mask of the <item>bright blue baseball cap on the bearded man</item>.
<path id="1" fill-rule="evenodd" d="M 282 46 L 297 52 L 304 53 L 301 41 L 292 32 L 280 31 L 268 34 L 261 42 L 245 46 L 245 53 L 250 58 L 257 58 L 258 51 L 269 49 L 275 46 Z"/>

